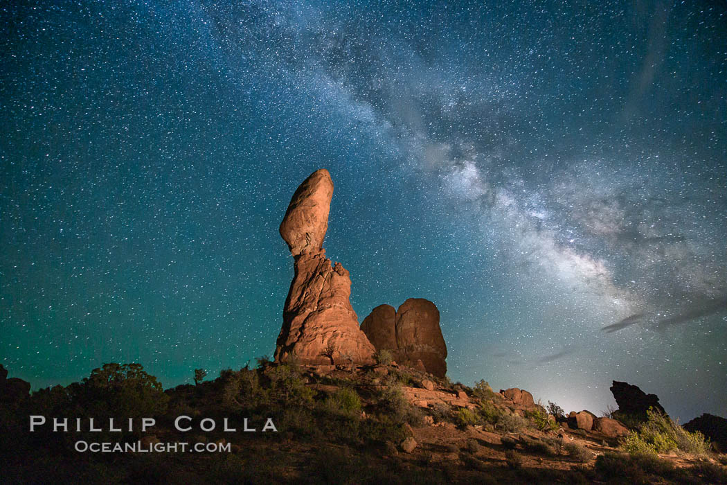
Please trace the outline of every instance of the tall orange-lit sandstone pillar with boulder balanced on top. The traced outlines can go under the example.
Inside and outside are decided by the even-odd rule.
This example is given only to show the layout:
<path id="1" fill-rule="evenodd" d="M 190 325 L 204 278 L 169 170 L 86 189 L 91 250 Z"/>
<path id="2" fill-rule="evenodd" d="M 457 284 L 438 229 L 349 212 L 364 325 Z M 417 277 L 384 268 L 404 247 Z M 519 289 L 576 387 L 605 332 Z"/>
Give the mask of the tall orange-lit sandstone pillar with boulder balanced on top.
<path id="1" fill-rule="evenodd" d="M 349 297 L 351 280 L 323 249 L 333 196 L 328 170 L 310 175 L 295 191 L 280 235 L 294 258 L 295 276 L 283 310 L 275 360 L 300 364 L 369 364 L 374 346 L 358 328 Z"/>

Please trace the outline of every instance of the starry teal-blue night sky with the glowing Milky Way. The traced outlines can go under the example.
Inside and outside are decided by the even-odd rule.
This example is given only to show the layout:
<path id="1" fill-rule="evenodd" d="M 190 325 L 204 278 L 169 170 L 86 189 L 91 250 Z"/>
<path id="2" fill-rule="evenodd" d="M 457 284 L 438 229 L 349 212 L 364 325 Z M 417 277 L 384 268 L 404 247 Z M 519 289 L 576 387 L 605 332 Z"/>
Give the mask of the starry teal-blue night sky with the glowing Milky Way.
<path id="1" fill-rule="evenodd" d="M 319 168 L 359 321 L 449 377 L 727 415 L 722 2 L 4 2 L 0 363 L 165 387 L 272 355 Z"/>

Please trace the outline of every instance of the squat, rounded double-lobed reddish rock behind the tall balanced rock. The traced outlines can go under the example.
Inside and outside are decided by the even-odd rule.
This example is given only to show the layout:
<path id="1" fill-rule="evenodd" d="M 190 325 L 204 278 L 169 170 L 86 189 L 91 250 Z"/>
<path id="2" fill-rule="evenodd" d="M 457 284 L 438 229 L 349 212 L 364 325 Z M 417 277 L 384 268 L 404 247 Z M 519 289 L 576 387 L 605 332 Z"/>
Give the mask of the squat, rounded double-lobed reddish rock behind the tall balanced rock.
<path id="1" fill-rule="evenodd" d="M 390 350 L 399 364 L 415 367 L 421 361 L 426 372 L 446 375 L 447 346 L 433 302 L 409 298 L 398 310 L 379 305 L 364 318 L 361 330 L 376 350 Z"/>

